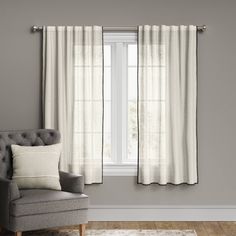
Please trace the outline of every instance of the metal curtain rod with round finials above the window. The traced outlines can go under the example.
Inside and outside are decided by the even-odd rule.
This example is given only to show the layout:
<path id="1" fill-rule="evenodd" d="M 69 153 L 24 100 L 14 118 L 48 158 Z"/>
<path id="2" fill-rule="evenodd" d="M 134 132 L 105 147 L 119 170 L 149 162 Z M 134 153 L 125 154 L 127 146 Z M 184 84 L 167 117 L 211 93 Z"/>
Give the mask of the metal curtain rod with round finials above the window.
<path id="1" fill-rule="evenodd" d="M 103 27 L 104 31 L 136 31 L 137 27 L 135 26 L 105 26 Z M 31 31 L 40 32 L 43 30 L 43 26 L 32 26 Z M 206 25 L 197 26 L 198 32 L 204 32 L 206 30 Z"/>

